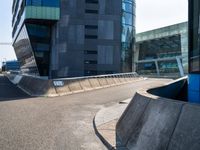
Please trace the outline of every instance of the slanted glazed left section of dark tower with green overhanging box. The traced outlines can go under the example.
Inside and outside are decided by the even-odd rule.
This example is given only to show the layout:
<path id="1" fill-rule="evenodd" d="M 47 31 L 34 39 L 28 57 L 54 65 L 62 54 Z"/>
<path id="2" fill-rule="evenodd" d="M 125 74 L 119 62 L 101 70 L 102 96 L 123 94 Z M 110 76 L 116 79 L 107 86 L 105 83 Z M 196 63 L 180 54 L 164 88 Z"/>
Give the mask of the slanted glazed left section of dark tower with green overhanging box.
<path id="1" fill-rule="evenodd" d="M 13 47 L 24 73 L 49 76 L 51 28 L 59 5 L 59 0 L 13 1 Z"/>

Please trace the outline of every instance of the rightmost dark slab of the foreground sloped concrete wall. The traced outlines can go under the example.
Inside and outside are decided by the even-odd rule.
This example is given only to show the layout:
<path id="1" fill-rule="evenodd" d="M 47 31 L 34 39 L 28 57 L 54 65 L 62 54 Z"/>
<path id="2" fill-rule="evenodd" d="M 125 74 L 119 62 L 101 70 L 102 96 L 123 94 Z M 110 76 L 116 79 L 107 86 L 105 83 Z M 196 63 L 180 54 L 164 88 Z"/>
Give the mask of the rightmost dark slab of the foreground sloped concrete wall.
<path id="1" fill-rule="evenodd" d="M 200 106 L 186 104 L 172 136 L 168 150 L 200 149 Z"/>

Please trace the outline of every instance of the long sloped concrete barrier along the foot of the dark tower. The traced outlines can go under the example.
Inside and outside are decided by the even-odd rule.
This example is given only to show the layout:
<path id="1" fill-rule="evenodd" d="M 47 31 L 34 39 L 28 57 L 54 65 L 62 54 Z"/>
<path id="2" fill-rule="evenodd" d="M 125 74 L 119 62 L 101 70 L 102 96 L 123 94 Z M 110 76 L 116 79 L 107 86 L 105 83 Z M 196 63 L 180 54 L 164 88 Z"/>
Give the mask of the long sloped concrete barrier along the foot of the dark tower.
<path id="1" fill-rule="evenodd" d="M 31 96 L 63 96 L 144 80 L 137 73 L 123 73 L 80 78 L 47 80 L 27 75 L 6 75 L 11 82 Z"/>

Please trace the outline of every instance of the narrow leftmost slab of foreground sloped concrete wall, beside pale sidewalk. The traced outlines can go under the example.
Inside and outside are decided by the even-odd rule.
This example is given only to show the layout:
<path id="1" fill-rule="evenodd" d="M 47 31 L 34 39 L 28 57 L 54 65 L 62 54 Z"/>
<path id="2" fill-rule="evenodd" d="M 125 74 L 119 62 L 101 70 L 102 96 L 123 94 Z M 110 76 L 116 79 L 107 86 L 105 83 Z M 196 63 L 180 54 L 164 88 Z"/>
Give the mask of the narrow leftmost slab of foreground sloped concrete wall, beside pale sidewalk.
<path id="1" fill-rule="evenodd" d="M 129 138 L 134 134 L 137 123 L 142 117 L 147 105 L 150 102 L 150 98 L 141 96 L 136 93 L 127 109 L 119 119 L 116 127 L 116 132 L 122 145 L 126 145 Z"/>

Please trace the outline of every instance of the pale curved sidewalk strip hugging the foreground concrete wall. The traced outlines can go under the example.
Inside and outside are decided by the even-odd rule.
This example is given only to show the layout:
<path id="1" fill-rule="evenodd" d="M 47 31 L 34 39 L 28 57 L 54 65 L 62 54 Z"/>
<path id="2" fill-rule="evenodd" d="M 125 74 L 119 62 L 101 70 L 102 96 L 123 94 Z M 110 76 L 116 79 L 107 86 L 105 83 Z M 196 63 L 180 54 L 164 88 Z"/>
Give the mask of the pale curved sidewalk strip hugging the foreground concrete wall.
<path id="1" fill-rule="evenodd" d="M 127 99 L 111 107 L 102 108 L 94 118 L 96 134 L 108 149 L 126 150 L 125 147 L 118 147 L 120 143 L 116 140 L 115 129 L 117 121 L 130 101 L 131 99 Z"/>

